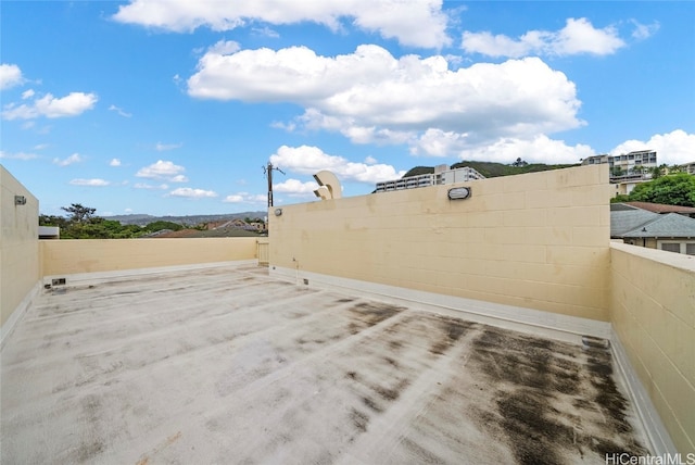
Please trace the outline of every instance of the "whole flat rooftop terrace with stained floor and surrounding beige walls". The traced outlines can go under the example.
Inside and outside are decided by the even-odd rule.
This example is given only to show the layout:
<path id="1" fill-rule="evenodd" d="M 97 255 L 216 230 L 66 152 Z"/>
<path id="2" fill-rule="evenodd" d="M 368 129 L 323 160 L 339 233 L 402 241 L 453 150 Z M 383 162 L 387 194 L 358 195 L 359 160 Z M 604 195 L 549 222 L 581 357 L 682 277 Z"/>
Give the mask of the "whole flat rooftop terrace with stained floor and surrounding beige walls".
<path id="1" fill-rule="evenodd" d="M 0 166 L 0 461 L 695 453 L 695 256 L 611 241 L 601 165 L 315 177 L 266 238 L 39 240 Z"/>

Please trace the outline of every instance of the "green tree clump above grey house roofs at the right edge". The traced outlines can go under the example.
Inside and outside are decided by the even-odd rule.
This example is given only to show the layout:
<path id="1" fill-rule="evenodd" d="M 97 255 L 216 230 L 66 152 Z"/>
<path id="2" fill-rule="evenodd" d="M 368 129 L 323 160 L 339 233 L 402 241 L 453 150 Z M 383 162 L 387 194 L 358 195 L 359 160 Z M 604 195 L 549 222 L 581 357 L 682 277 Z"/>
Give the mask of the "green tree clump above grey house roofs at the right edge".
<path id="1" fill-rule="evenodd" d="M 686 173 L 660 176 L 635 186 L 630 201 L 695 206 L 695 176 Z"/>

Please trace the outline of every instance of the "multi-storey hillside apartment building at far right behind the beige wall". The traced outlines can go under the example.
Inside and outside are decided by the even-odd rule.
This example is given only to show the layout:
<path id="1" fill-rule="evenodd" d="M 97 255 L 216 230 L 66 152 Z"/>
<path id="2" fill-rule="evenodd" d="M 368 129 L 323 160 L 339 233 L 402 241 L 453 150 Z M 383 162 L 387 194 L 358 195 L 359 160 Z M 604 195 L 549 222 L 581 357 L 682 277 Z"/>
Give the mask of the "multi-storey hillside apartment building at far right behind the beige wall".
<path id="1" fill-rule="evenodd" d="M 655 150 L 637 150 L 620 155 L 595 155 L 582 161 L 583 165 L 607 164 L 610 183 L 617 194 L 629 194 L 640 184 L 652 179 L 649 168 L 658 166 Z"/>

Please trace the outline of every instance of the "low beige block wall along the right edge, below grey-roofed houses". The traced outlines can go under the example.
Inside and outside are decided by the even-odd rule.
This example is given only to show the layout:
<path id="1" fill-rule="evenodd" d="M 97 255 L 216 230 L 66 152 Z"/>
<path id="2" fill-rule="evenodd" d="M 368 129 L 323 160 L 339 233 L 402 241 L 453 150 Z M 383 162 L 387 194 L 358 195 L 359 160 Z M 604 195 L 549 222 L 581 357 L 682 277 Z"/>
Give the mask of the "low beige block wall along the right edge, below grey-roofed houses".
<path id="1" fill-rule="evenodd" d="M 678 450 L 695 453 L 695 259 L 611 246 L 611 321 Z"/>

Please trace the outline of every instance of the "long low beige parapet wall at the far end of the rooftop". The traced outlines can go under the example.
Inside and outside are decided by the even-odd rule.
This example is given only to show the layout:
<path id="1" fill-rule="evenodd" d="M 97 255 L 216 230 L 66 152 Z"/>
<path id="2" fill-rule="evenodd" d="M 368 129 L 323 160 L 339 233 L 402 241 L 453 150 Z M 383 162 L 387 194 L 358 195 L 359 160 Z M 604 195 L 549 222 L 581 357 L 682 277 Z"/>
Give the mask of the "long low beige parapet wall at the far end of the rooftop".
<path id="1" fill-rule="evenodd" d="M 253 260 L 256 240 L 254 237 L 42 240 L 42 276 Z"/>

